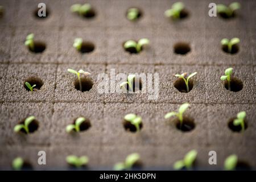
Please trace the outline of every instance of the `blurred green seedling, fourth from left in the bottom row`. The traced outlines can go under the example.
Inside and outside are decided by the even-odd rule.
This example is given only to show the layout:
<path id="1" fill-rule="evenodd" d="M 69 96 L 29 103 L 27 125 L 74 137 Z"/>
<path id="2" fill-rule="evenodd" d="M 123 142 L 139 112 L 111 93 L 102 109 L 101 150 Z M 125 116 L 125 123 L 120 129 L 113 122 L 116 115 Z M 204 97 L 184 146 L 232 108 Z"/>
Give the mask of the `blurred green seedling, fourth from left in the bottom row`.
<path id="1" fill-rule="evenodd" d="M 193 162 L 195 161 L 197 156 L 197 151 L 196 150 L 191 150 L 189 151 L 185 156 L 184 159 L 182 160 L 177 160 L 174 163 L 174 169 L 180 170 L 181 168 L 185 167 L 187 169 L 191 169 Z"/>

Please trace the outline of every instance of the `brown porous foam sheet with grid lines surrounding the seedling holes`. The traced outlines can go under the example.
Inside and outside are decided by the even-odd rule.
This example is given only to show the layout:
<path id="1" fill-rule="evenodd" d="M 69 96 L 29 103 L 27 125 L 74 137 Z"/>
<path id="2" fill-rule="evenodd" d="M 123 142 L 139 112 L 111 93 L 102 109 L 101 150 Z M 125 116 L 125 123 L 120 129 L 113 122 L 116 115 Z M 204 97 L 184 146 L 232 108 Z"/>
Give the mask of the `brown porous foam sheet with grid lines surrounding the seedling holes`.
<path id="1" fill-rule="evenodd" d="M 87 155 L 88 169 L 112 169 L 132 152 L 141 154 L 142 169 L 172 169 L 176 160 L 192 149 L 198 151 L 196 169 L 222 169 L 231 154 L 256 169 L 256 1 L 238 0 L 241 10 L 233 19 L 208 16 L 210 0 L 183 0 L 188 17 L 172 21 L 164 16 L 175 1 L 88 0 L 96 13 L 91 19 L 72 14 L 69 8 L 84 1 L 44 0 L 49 16 L 36 18 L 39 0 L 1 0 L 5 14 L 0 18 L 0 169 L 11 169 L 17 156 L 34 169 L 69 169 L 67 155 Z M 215 3 L 228 5 L 233 1 Z M 130 7 L 141 10 L 136 22 L 126 19 Z M 46 45 L 42 53 L 24 46 L 30 33 L 35 42 Z M 80 53 L 72 47 L 81 37 L 94 50 Z M 222 51 L 222 38 L 240 38 L 238 53 Z M 123 49 L 127 40 L 148 38 L 141 53 Z M 185 55 L 174 48 L 187 46 Z M 182 47 L 181 47 L 182 49 Z M 220 77 L 226 68 L 242 81 L 240 92 L 225 88 Z M 68 68 L 92 73 L 86 77 L 92 88 L 80 92 L 76 76 Z M 110 84 L 110 93 L 99 93 L 100 73 L 159 73 L 159 97 L 150 93 L 111 93 L 119 80 Z M 179 73 L 197 72 L 189 93 L 174 86 Z M 83 76 L 84 77 L 84 76 Z M 42 86 L 29 92 L 24 83 L 40 80 Z M 143 82 L 142 82 L 143 85 Z M 184 102 L 191 107 L 185 117 L 195 128 L 182 132 L 176 118 L 164 119 Z M 233 132 L 228 122 L 246 111 L 247 129 Z M 142 117 L 139 133 L 126 131 L 123 117 Z M 32 134 L 14 133 L 13 128 L 30 115 L 39 123 Z M 90 121 L 88 130 L 67 134 L 65 127 L 78 117 Z M 38 151 L 46 151 L 47 165 L 38 164 Z M 217 165 L 209 165 L 208 152 L 217 152 Z"/>

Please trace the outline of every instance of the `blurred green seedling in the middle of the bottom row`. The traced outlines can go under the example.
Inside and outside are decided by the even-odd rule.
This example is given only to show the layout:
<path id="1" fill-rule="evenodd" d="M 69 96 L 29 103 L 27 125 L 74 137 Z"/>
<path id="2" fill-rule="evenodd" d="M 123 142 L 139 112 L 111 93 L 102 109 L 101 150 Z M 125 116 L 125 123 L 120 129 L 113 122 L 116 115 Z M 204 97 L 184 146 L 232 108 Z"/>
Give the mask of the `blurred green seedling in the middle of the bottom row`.
<path id="1" fill-rule="evenodd" d="M 130 154 L 126 157 L 125 162 L 116 163 L 114 165 L 114 170 L 129 170 L 139 161 L 140 158 L 141 156 L 138 153 Z"/>

